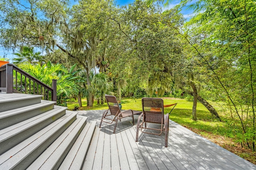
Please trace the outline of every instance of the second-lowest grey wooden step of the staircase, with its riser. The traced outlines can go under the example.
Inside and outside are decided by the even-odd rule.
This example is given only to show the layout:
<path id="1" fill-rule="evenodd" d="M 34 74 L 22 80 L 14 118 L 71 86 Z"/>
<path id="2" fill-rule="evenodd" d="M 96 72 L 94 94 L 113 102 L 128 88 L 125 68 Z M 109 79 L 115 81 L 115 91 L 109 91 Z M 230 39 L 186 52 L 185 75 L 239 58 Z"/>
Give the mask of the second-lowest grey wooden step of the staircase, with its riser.
<path id="1" fill-rule="evenodd" d="M 78 136 L 80 137 L 81 131 L 86 124 L 87 117 L 77 118 L 77 120 L 70 125 L 70 127 L 62 134 L 52 145 L 50 145 L 28 168 L 27 170 L 48 170 L 57 169 L 74 143 Z M 86 125 L 85 125 L 86 124 Z M 90 125 L 89 125 L 90 126 Z"/>

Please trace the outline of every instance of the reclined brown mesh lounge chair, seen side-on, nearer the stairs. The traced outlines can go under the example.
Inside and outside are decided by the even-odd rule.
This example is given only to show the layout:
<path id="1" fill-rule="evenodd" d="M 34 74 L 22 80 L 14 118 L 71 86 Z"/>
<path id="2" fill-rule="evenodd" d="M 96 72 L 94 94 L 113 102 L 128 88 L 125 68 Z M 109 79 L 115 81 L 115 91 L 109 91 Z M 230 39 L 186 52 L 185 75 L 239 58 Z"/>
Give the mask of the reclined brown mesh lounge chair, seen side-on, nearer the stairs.
<path id="1" fill-rule="evenodd" d="M 111 124 L 115 121 L 116 123 L 115 123 L 114 131 L 113 131 L 113 133 L 115 133 L 116 132 L 116 125 L 117 125 L 118 120 L 121 121 L 122 118 L 128 117 L 128 116 L 132 117 L 132 121 L 133 121 L 133 125 L 134 125 L 133 115 L 134 115 L 134 112 L 136 112 L 136 114 L 138 114 L 137 113 L 138 111 L 134 111 L 134 110 L 131 110 L 131 109 L 121 111 L 120 107 L 118 106 L 116 96 L 106 95 L 105 98 L 106 98 L 106 101 L 108 103 L 108 109 L 105 110 L 103 115 L 102 115 L 102 118 L 101 118 L 101 121 L 100 121 L 100 127 L 101 127 L 102 122 Z M 105 121 L 104 119 L 107 119 L 108 121 Z"/>

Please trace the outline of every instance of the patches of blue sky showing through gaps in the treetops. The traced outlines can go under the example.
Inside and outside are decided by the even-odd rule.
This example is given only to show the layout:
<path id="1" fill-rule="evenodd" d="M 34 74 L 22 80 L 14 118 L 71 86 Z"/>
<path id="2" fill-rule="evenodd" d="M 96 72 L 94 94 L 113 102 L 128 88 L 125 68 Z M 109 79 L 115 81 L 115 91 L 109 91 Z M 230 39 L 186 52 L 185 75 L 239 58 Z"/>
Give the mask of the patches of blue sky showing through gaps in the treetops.
<path id="1" fill-rule="evenodd" d="M 192 1 L 192 3 L 193 3 L 193 1 Z M 76 1 L 70 0 L 70 2 L 71 2 L 71 4 L 77 4 L 78 0 L 76 0 Z M 130 4 L 132 2 L 134 2 L 134 0 L 116 0 L 116 4 L 120 5 L 120 6 L 127 5 L 127 4 Z M 163 8 L 163 10 L 168 9 L 168 8 L 170 9 L 170 8 L 172 8 L 173 6 L 175 6 L 179 3 L 180 3 L 180 0 L 172 0 L 171 4 L 169 4 L 168 7 Z M 184 18 L 189 18 L 190 14 L 192 14 L 192 11 L 184 8 L 181 11 L 181 13 L 184 15 Z M 4 51 L 4 49 L 2 47 L 0 47 L 0 57 L 6 56 L 6 58 L 8 58 L 8 59 L 12 59 L 13 58 L 12 53 L 13 53 L 12 50 Z M 12 61 L 10 61 L 10 62 L 12 62 Z"/>

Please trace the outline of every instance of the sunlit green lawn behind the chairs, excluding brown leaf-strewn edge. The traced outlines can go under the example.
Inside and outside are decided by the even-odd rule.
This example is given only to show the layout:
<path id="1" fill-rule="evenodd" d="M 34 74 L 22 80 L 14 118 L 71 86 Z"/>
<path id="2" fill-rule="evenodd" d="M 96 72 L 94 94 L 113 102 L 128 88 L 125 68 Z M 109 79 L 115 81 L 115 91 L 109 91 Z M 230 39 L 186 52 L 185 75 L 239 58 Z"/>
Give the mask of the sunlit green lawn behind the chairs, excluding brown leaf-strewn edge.
<path id="1" fill-rule="evenodd" d="M 193 102 L 185 99 L 170 99 L 164 98 L 164 105 L 178 103 L 170 114 L 170 119 L 186 127 L 193 127 L 200 129 L 201 131 L 210 131 L 218 135 L 225 135 L 228 127 L 225 127 L 225 123 L 216 121 L 212 118 L 210 112 L 200 102 L 197 104 L 197 117 L 198 121 L 192 120 L 192 106 Z M 73 109 L 74 106 L 78 106 L 77 102 L 67 102 L 68 108 Z M 82 105 L 84 107 L 80 110 L 102 110 L 107 109 L 107 104 L 97 105 L 94 101 L 93 107 L 86 107 L 86 99 L 82 99 Z M 141 99 L 123 98 L 122 109 L 142 110 Z M 169 113 L 172 107 L 164 108 L 165 113 Z M 220 113 L 219 113 L 220 114 Z M 220 115 L 221 116 L 221 115 Z"/>

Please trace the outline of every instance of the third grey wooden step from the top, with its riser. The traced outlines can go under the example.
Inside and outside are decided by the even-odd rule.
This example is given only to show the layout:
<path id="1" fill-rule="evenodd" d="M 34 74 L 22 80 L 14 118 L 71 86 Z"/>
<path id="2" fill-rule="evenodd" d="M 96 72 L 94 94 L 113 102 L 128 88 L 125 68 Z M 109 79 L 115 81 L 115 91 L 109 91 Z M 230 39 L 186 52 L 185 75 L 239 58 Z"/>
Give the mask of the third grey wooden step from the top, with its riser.
<path id="1" fill-rule="evenodd" d="M 34 135 L 66 114 L 66 107 L 54 109 L 0 130 L 0 154 Z"/>

